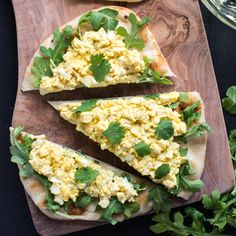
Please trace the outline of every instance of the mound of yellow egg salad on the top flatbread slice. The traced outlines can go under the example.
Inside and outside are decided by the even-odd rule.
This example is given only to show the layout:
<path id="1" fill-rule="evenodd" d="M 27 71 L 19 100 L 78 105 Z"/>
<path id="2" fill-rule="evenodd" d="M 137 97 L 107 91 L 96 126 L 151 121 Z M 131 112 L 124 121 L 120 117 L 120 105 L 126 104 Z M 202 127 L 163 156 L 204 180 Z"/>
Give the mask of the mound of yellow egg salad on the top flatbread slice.
<path id="1" fill-rule="evenodd" d="M 103 55 L 110 63 L 110 71 L 103 81 L 97 81 L 90 70 L 92 55 Z M 145 68 L 143 57 L 137 49 L 127 49 L 122 36 L 114 31 L 106 33 L 103 28 L 87 31 L 80 39 L 75 37 L 63 59 L 52 70 L 52 77 L 41 79 L 41 94 L 84 86 L 134 83 L 139 81 Z"/>

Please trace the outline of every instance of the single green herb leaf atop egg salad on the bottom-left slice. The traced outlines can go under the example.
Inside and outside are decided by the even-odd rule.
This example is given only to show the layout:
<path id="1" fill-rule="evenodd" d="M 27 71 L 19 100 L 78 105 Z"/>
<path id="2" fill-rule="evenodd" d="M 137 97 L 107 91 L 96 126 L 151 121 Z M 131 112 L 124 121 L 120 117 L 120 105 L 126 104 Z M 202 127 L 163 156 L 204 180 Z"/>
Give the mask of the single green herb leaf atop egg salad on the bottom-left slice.
<path id="1" fill-rule="evenodd" d="M 75 180 L 81 183 L 91 183 L 97 178 L 98 175 L 99 171 L 94 170 L 91 167 L 82 167 L 76 170 Z"/>

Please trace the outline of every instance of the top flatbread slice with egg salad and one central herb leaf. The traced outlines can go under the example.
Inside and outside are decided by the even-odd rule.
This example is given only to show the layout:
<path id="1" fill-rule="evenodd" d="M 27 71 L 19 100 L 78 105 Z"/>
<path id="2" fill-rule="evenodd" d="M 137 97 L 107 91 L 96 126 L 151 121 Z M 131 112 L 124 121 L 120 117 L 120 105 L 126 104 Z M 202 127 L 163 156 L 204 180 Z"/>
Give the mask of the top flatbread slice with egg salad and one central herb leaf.
<path id="1" fill-rule="evenodd" d="M 174 73 L 148 29 L 150 19 L 118 6 L 75 18 L 36 51 L 22 90 L 44 95 L 121 83 L 172 84 Z"/>

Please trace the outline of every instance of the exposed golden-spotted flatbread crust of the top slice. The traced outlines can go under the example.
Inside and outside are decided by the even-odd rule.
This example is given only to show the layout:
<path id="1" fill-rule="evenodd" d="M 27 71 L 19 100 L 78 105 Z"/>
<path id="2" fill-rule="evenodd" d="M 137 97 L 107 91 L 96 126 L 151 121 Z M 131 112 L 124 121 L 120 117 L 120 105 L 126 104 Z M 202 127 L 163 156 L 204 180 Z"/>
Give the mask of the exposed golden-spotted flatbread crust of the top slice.
<path id="1" fill-rule="evenodd" d="M 128 31 L 130 31 L 131 29 L 131 25 L 129 23 L 129 21 L 127 20 L 127 16 L 130 13 L 134 13 L 136 15 L 136 13 L 128 8 L 125 7 L 119 7 L 119 6 L 106 6 L 106 7 L 102 7 L 99 8 L 97 10 L 101 10 L 103 8 L 110 8 L 110 9 L 114 9 L 116 11 L 119 12 L 118 16 L 117 16 L 117 20 L 119 21 L 118 23 L 118 27 L 119 26 L 123 26 L 124 28 L 126 28 Z M 96 10 L 96 9 L 95 9 Z M 81 15 L 82 16 L 82 15 Z M 76 17 L 74 20 L 66 23 L 65 25 L 61 26 L 60 29 L 63 29 L 66 25 L 71 25 L 74 29 L 77 28 L 78 26 L 78 22 L 80 17 Z M 137 19 L 140 20 L 140 18 L 136 15 Z M 81 31 L 85 31 L 85 30 L 89 30 L 88 28 L 85 28 L 85 26 L 81 26 Z M 144 49 L 141 51 L 141 53 L 144 56 L 147 56 L 151 61 L 151 67 L 160 72 L 161 75 L 163 76 L 168 76 L 168 77 L 174 77 L 175 74 L 172 72 L 172 70 L 170 69 L 170 66 L 168 65 L 165 57 L 163 56 L 160 47 L 158 46 L 156 39 L 154 37 L 154 35 L 152 34 L 152 32 L 149 30 L 148 26 L 145 26 L 143 28 L 143 30 L 140 32 L 139 34 L 140 37 L 142 37 L 145 41 L 145 47 Z M 45 46 L 46 48 L 49 47 L 53 47 L 53 35 L 50 35 L 42 44 L 41 46 Z M 22 81 L 22 91 L 31 91 L 31 90 L 37 90 L 35 87 L 33 87 L 32 85 L 32 80 L 34 78 L 32 72 L 31 72 L 31 68 L 33 66 L 33 61 L 34 58 L 36 56 L 40 56 L 40 50 L 39 48 L 37 49 L 37 51 L 35 52 L 35 54 L 33 55 L 29 65 L 26 68 L 24 77 L 23 77 L 23 81 Z"/>

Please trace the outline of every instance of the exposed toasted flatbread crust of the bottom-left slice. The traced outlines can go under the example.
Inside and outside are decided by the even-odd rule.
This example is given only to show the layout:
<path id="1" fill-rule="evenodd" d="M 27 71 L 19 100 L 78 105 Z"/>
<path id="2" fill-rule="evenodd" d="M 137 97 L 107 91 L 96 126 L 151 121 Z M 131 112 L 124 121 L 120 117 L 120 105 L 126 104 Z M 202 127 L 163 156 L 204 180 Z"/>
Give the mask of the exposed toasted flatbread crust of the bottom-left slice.
<path id="1" fill-rule="evenodd" d="M 12 131 L 12 128 L 10 129 Z M 36 136 L 37 137 L 37 136 Z M 11 143 L 12 143 L 12 132 L 11 132 Z M 12 143 L 13 144 L 13 143 Z M 57 144 L 60 146 L 59 144 Z M 74 151 L 72 149 L 69 149 L 71 151 Z M 85 154 L 83 154 L 85 155 Z M 95 160 L 94 158 L 85 155 L 86 158 Z M 98 161 L 98 160 L 96 160 Z M 108 170 L 113 170 L 116 173 L 124 173 L 125 171 L 120 170 L 114 166 L 111 166 L 107 163 L 99 161 L 100 165 Z M 18 165 L 19 169 L 21 168 L 20 165 Z M 154 205 L 152 202 L 148 202 L 148 190 L 150 188 L 155 187 L 155 185 L 151 182 L 148 182 L 147 180 L 144 180 L 140 177 L 134 176 L 132 174 L 129 174 L 131 179 L 134 180 L 137 183 L 145 183 L 147 185 L 147 189 L 139 193 L 139 195 L 135 198 L 135 201 L 140 204 L 140 210 L 136 212 L 132 217 L 136 217 L 139 215 L 147 214 L 150 212 Z M 56 220 L 86 220 L 86 221 L 100 221 L 101 214 L 99 212 L 96 212 L 96 204 L 91 203 L 85 211 L 81 211 L 80 215 L 68 215 L 60 211 L 51 212 L 47 209 L 47 204 L 45 201 L 45 189 L 44 186 L 41 184 L 41 182 L 38 180 L 37 177 L 31 176 L 31 177 L 20 177 L 20 180 L 24 186 L 25 191 L 28 193 L 30 198 L 33 200 L 34 204 L 39 208 L 39 210 L 47 215 L 48 217 Z M 123 215 L 118 215 L 115 218 L 117 221 L 123 221 L 125 217 Z"/>

